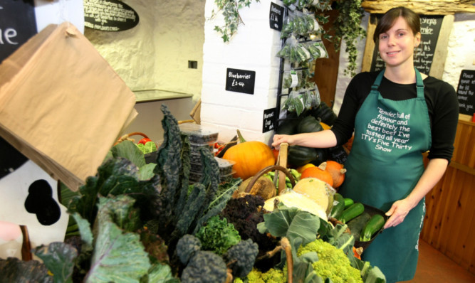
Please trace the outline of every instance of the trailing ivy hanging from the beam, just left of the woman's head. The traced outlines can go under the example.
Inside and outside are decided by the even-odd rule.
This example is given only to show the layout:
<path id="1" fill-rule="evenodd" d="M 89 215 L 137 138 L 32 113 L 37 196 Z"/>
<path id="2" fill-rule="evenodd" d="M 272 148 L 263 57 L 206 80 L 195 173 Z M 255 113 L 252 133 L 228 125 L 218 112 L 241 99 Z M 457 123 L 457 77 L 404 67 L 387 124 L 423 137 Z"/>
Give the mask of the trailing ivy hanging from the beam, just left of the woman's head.
<path id="1" fill-rule="evenodd" d="M 357 59 L 357 38 L 365 38 L 366 31 L 361 27 L 361 19 L 365 10 L 361 7 L 362 0 L 338 0 L 336 1 L 336 9 L 339 14 L 333 23 L 335 28 L 335 36 L 333 36 L 333 45 L 335 50 L 340 50 L 342 39 L 346 43 L 345 52 L 348 54 L 348 67 L 345 69 L 345 75 L 356 74 Z"/>

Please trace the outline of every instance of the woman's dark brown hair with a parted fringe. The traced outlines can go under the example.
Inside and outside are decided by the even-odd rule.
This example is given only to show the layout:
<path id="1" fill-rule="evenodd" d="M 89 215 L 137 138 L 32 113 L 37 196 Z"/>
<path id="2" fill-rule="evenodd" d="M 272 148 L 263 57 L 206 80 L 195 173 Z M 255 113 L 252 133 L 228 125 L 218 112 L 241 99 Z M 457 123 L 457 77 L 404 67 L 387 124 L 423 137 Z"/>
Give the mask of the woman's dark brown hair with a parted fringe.
<path id="1" fill-rule="evenodd" d="M 372 36 L 372 40 L 377 43 L 380 39 L 380 34 L 389 31 L 392 25 L 396 22 L 397 18 L 402 16 L 407 22 L 407 26 L 411 28 L 414 36 L 421 31 L 421 20 L 419 15 L 416 14 L 411 9 L 405 7 L 396 7 L 388 10 L 382 17 L 380 21 L 377 22 L 375 28 L 375 34 Z"/>

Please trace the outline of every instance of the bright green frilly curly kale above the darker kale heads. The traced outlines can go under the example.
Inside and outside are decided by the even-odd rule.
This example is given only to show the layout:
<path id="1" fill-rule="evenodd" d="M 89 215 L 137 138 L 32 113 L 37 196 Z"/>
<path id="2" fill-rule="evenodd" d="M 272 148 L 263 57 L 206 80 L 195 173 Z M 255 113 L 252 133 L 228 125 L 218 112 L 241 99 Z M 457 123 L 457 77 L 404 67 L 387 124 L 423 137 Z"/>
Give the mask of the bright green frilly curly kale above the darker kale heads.
<path id="1" fill-rule="evenodd" d="M 202 242 L 203 250 L 211 250 L 218 255 L 223 255 L 241 240 L 234 225 L 228 223 L 226 218 L 220 219 L 218 215 L 209 218 L 207 225 L 199 228 L 196 236 Z"/>

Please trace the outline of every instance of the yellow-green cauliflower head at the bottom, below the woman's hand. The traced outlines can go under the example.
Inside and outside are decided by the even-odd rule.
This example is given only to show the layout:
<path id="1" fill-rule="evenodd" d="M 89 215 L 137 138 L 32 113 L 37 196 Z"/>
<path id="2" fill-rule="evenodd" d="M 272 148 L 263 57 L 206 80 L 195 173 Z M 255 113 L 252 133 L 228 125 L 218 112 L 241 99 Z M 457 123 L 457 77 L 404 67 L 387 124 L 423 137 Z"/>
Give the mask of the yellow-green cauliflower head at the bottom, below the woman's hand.
<path id="1" fill-rule="evenodd" d="M 318 261 L 313 262 L 313 271 L 323 279 L 330 278 L 333 283 L 362 283 L 360 270 L 352 267 L 343 250 L 317 239 L 298 248 L 297 255 L 317 252 Z"/>

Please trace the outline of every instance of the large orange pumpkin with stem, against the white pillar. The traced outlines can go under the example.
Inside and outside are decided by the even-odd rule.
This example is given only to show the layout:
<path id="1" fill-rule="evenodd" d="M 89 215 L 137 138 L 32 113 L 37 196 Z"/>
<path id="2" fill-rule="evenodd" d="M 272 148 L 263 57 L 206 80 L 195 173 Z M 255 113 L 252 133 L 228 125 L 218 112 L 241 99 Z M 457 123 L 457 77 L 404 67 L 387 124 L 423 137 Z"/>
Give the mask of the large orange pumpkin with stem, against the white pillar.
<path id="1" fill-rule="evenodd" d="M 224 153 L 223 159 L 236 162 L 233 169 L 234 178 L 246 178 L 256 175 L 261 169 L 271 166 L 276 163 L 273 157 L 271 148 L 259 141 L 249 141 L 242 137 L 241 132 L 238 132 L 239 144 L 231 146 Z"/>

